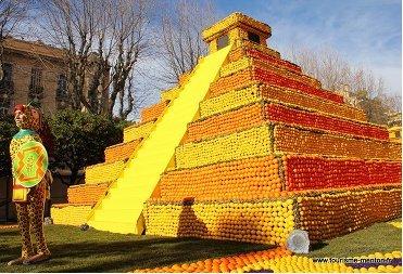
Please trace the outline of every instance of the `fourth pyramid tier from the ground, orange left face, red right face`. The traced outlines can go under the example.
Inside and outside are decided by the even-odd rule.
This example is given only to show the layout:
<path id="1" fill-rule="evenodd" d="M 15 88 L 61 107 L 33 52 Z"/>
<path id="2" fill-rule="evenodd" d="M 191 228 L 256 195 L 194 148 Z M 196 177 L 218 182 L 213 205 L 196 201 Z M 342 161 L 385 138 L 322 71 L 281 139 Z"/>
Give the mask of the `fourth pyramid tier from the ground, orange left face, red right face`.
<path id="1" fill-rule="evenodd" d="M 333 134 L 344 133 L 353 136 L 377 140 L 389 139 L 388 130 L 378 125 L 336 118 L 322 113 L 301 109 L 293 105 L 261 101 L 190 123 L 184 142 L 196 142 L 244 130 L 251 126 L 259 126 L 264 121 L 302 126 L 325 130 Z"/>

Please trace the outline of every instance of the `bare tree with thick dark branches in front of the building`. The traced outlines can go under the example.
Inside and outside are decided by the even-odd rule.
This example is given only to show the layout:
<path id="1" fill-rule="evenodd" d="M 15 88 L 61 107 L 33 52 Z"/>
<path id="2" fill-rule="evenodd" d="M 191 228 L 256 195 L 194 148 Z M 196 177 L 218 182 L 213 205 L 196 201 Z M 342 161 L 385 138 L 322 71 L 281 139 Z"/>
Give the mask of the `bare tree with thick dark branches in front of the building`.
<path id="1" fill-rule="evenodd" d="M 43 29 L 65 49 L 72 107 L 126 118 L 134 110 L 130 76 L 146 51 L 147 0 L 43 1 Z"/>

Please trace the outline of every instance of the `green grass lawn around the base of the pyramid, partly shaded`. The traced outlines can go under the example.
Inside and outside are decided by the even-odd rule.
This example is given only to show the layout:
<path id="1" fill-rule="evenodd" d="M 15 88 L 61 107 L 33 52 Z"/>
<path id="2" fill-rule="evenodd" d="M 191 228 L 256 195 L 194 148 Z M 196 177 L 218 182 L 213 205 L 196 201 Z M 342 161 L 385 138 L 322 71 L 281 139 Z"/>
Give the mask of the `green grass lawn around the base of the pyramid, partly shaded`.
<path id="1" fill-rule="evenodd" d="M 402 231 L 388 223 L 315 245 L 311 257 L 350 257 L 402 248 Z M 0 272 L 127 272 L 174 263 L 204 260 L 269 246 L 237 242 L 178 239 L 86 232 L 75 226 L 49 225 L 46 235 L 52 259 L 42 264 L 8 266 L 18 257 L 21 238 L 16 229 L 0 230 Z"/>

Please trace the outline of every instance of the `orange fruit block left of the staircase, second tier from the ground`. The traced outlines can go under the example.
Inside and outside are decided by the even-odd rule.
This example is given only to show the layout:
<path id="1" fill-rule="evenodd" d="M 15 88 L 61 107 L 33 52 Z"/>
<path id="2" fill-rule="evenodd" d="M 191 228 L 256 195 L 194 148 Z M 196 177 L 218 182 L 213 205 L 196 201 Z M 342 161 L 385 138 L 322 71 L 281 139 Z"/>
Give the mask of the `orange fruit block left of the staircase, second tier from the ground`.
<path id="1" fill-rule="evenodd" d="M 67 188 L 68 204 L 96 204 L 108 191 L 109 183 L 81 184 Z"/>

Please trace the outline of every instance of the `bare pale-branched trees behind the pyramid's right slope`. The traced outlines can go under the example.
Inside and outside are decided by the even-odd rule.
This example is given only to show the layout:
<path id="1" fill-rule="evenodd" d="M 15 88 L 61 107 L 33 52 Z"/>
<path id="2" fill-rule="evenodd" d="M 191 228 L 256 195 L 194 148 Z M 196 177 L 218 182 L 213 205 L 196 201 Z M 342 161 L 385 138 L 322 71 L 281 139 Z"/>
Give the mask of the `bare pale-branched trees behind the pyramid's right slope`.
<path id="1" fill-rule="evenodd" d="M 318 79 L 325 89 L 341 93 L 348 103 L 361 107 L 368 120 L 387 123 L 388 113 L 399 110 L 399 97 L 387 95 L 381 77 L 363 67 L 355 68 L 340 53 L 322 48 L 291 48 L 289 56 L 305 74 Z"/>

